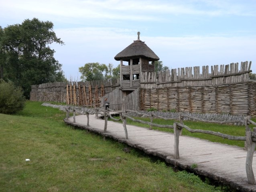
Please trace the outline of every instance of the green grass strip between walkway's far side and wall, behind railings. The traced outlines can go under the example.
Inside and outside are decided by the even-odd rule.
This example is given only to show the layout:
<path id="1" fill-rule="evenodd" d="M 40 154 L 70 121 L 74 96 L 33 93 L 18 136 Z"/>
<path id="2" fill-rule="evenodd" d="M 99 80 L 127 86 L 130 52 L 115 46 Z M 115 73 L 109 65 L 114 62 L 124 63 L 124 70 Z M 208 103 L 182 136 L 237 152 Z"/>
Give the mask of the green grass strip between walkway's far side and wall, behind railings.
<path id="1" fill-rule="evenodd" d="M 116 117 L 118 118 L 118 117 Z M 147 117 L 134 117 L 134 119 L 140 119 L 143 121 L 150 122 L 150 118 Z M 252 118 L 254 122 L 256 122 L 256 118 Z M 160 124 L 160 125 L 173 125 L 175 120 L 164 120 L 164 119 L 153 119 L 153 123 Z M 177 121 L 177 120 L 176 120 Z M 120 121 L 118 121 L 120 122 Z M 122 123 L 122 121 L 120 122 Z M 235 135 L 235 136 L 244 136 L 245 135 L 245 126 L 237 126 L 237 125 L 225 125 L 225 124 L 217 124 L 217 123 L 205 123 L 205 122 L 195 122 L 195 121 L 183 121 L 184 125 L 187 125 L 191 129 L 203 129 L 203 130 L 209 130 L 209 131 L 215 131 L 220 132 L 228 135 Z M 149 125 L 134 122 L 127 118 L 127 124 L 129 125 L 136 125 L 140 127 L 147 127 L 149 128 Z M 254 125 L 250 125 L 250 127 L 254 127 Z M 160 131 L 166 131 L 173 133 L 173 129 L 169 128 L 161 128 L 161 127 L 152 127 L 152 129 L 157 129 Z M 201 139 L 207 139 L 209 141 L 218 142 L 218 143 L 225 143 L 228 145 L 234 145 L 239 147 L 244 147 L 244 141 L 236 141 L 236 140 L 229 140 L 229 139 L 223 139 L 222 137 L 218 137 L 215 135 L 209 135 L 204 133 L 191 133 L 187 131 L 186 129 L 182 130 L 182 135 L 187 135 L 190 137 L 198 137 Z"/>

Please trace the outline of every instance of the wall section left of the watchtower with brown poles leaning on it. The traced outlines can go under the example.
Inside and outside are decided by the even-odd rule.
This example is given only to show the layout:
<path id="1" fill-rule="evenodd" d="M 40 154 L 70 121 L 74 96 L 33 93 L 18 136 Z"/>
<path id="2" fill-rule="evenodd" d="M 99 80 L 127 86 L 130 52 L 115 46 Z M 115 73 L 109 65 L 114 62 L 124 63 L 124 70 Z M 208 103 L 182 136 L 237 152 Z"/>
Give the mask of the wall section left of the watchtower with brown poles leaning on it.
<path id="1" fill-rule="evenodd" d="M 118 87 L 120 87 L 120 79 L 44 83 L 31 86 L 30 100 L 100 106 L 102 97 Z"/>

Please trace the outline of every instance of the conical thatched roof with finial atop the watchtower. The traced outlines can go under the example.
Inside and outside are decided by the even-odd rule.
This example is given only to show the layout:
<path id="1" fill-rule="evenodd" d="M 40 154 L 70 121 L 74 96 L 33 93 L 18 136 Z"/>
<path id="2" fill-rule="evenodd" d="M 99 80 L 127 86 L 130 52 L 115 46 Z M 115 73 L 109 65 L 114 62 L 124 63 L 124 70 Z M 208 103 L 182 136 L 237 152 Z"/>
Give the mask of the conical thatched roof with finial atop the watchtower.
<path id="1" fill-rule="evenodd" d="M 132 44 L 118 53 L 115 59 L 116 61 L 120 61 L 121 59 L 131 59 L 136 57 L 144 57 L 152 61 L 159 60 L 159 57 L 145 44 L 145 42 L 139 39 L 139 36 L 138 40 L 134 40 Z"/>

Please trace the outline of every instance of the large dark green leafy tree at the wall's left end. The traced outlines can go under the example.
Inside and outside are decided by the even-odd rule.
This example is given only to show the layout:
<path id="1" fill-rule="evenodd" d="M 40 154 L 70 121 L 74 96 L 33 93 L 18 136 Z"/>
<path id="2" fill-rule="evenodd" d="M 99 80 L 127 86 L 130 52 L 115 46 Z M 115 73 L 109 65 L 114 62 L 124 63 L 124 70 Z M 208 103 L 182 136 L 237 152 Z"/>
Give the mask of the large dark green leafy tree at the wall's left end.
<path id="1" fill-rule="evenodd" d="M 50 44 L 64 42 L 57 38 L 53 23 L 37 18 L 7 26 L 0 32 L 0 48 L 6 53 L 0 59 L 3 79 L 10 79 L 24 89 L 29 98 L 31 85 L 65 79 L 61 64 L 54 58 Z M 1 50 L 1 49 L 0 49 Z"/>

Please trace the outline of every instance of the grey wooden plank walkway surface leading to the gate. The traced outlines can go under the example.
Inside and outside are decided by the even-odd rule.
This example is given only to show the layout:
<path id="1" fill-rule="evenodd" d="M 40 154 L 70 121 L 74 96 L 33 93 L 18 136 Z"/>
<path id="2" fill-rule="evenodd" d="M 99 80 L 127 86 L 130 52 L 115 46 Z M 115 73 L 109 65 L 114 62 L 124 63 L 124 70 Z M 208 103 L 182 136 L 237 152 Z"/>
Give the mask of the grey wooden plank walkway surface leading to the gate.
<path id="1" fill-rule="evenodd" d="M 195 137 L 180 136 L 180 159 L 174 159 L 173 133 L 126 125 L 128 139 L 125 139 L 121 123 L 108 121 L 107 131 L 104 132 L 104 120 L 96 119 L 95 115 L 89 115 L 89 127 L 86 126 L 86 115 L 77 115 L 75 120 L 76 122 L 73 123 L 73 117 L 69 117 L 64 121 L 67 124 L 127 143 L 147 154 L 163 158 L 175 166 L 190 169 L 197 174 L 228 184 L 237 190 L 256 192 L 256 185 L 248 184 L 245 168 L 247 152 L 243 148 Z M 192 169 L 192 164 L 197 164 L 197 168 Z M 254 155 L 252 167 L 256 175 L 256 155 Z"/>

